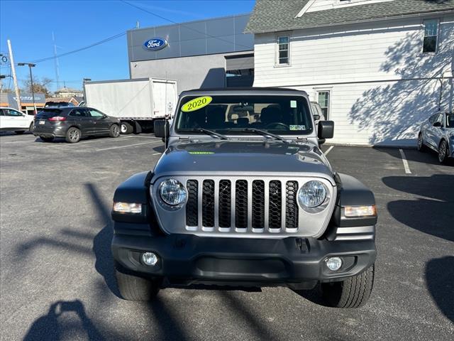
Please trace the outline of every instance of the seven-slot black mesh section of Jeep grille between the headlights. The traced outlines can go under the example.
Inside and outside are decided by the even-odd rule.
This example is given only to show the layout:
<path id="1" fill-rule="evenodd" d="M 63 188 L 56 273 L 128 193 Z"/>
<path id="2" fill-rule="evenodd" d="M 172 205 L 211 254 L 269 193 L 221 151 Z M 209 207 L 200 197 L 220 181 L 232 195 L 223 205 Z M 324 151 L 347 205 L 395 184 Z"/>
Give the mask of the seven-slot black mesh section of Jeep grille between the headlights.
<path id="1" fill-rule="evenodd" d="M 280 180 L 271 180 L 267 182 L 267 190 L 265 190 L 263 180 L 253 180 L 251 186 L 248 180 L 240 179 L 233 182 L 235 190 L 232 193 L 231 180 L 218 180 L 216 186 L 214 180 L 203 180 L 200 194 L 201 207 L 198 205 L 197 183 L 197 180 L 187 180 L 186 224 L 188 227 L 197 226 L 201 211 L 201 227 L 247 229 L 250 226 L 253 229 L 267 228 L 275 232 L 279 232 L 282 226 L 287 229 L 298 228 L 297 181 L 287 181 L 282 184 Z M 215 188 L 218 197 L 217 207 L 215 206 Z M 285 188 L 284 193 L 282 188 Z M 249 205 L 250 200 L 252 205 Z M 282 210 L 283 202 L 285 210 Z"/>

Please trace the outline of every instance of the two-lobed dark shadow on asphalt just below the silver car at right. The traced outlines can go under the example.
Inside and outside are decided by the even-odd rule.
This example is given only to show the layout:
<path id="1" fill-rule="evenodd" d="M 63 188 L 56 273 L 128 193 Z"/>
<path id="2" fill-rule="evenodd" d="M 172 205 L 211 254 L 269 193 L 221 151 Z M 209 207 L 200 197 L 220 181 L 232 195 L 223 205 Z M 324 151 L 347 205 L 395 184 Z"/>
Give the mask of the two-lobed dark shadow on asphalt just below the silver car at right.
<path id="1" fill-rule="evenodd" d="M 418 195 L 387 204 L 394 219 L 413 229 L 454 242 L 454 175 L 389 176 L 389 188 Z"/>

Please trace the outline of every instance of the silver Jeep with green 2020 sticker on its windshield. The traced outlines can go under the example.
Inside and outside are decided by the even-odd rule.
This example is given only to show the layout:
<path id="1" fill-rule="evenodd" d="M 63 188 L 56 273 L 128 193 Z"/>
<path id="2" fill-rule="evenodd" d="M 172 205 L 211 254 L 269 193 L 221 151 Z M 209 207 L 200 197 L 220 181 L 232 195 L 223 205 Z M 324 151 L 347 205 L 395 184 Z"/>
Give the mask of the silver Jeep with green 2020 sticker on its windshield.
<path id="1" fill-rule="evenodd" d="M 305 92 L 190 90 L 153 171 L 114 195 L 112 254 L 126 300 L 205 284 L 319 288 L 326 305 L 356 308 L 374 281 L 372 192 L 336 173 L 319 145 Z"/>

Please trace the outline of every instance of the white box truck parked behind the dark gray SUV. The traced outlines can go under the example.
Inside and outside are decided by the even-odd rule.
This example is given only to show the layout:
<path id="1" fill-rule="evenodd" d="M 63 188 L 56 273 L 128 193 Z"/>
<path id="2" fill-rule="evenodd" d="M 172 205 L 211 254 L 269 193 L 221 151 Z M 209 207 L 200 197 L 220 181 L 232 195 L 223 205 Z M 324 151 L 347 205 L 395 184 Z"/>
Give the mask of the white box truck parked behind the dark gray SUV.
<path id="1" fill-rule="evenodd" d="M 177 81 L 157 78 L 84 82 L 85 105 L 121 121 L 121 133 L 153 129 L 155 119 L 171 118 Z"/>

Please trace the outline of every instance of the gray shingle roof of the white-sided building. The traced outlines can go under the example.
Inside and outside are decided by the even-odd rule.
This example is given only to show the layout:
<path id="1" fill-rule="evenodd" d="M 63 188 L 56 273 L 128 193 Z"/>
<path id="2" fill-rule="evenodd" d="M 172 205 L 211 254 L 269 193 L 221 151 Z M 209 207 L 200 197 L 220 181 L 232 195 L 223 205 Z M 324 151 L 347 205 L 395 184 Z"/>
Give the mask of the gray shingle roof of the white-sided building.
<path id="1" fill-rule="evenodd" d="M 304 13 L 295 18 L 309 0 L 257 0 L 245 33 L 287 31 L 360 23 L 438 11 L 454 11 L 454 0 L 394 0 Z"/>

